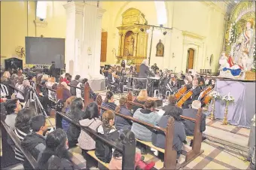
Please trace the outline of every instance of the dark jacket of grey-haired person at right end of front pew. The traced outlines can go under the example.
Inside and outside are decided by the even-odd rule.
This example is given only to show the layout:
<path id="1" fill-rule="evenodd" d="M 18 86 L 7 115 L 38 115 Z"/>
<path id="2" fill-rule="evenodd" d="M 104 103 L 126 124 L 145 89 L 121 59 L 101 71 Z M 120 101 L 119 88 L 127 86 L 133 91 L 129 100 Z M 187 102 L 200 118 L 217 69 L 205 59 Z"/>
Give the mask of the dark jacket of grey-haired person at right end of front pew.
<path id="1" fill-rule="evenodd" d="M 185 117 L 191 117 L 193 119 L 196 119 L 197 109 L 194 109 L 194 108 L 184 109 L 182 115 Z M 196 123 L 190 120 L 183 120 L 183 123 L 185 126 L 186 135 L 194 135 L 194 128 Z M 200 129 L 201 129 L 201 132 L 204 132 L 206 130 L 206 114 L 202 114 Z"/>

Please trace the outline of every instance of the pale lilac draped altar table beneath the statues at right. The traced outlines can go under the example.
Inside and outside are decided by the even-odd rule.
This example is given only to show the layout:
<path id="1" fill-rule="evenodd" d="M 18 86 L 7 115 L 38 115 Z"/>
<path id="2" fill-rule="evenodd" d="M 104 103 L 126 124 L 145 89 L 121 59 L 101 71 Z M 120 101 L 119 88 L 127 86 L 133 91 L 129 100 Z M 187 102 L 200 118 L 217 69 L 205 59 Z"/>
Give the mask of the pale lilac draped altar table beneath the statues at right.
<path id="1" fill-rule="evenodd" d="M 235 126 L 251 127 L 251 119 L 255 114 L 255 81 L 217 80 L 215 91 L 225 96 L 230 93 L 234 101 L 228 106 L 227 121 Z M 209 106 L 209 111 L 212 105 Z M 215 118 L 223 119 L 225 102 L 215 101 Z"/>

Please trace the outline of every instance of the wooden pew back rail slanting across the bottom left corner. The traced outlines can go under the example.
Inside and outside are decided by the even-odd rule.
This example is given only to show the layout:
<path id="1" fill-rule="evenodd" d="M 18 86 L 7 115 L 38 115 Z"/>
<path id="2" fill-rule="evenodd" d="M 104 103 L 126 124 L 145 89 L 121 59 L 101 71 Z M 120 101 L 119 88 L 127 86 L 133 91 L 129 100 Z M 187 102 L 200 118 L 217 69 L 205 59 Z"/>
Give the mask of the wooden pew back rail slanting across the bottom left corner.
<path id="1" fill-rule="evenodd" d="M 15 135 L 14 131 L 11 130 L 11 128 L 5 123 L 4 120 L 1 120 L 1 124 L 2 124 L 2 128 L 5 129 L 5 131 L 8 133 L 12 141 L 14 141 L 15 146 L 21 150 L 23 155 L 29 161 L 29 164 L 32 166 L 32 168 L 36 169 L 38 167 L 38 162 L 36 162 L 32 154 L 29 153 L 27 150 L 23 149 L 23 147 L 21 147 L 20 139 L 17 137 L 17 135 Z M 3 155 L 3 156 L 8 156 L 8 155 Z"/>

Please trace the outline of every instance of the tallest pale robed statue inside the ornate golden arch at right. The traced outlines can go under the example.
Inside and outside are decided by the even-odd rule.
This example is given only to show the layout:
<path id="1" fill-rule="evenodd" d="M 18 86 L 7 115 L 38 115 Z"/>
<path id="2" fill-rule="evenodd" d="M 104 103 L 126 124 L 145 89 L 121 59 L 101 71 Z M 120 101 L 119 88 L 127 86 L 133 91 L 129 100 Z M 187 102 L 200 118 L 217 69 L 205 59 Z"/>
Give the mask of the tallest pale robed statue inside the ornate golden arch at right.
<path id="1" fill-rule="evenodd" d="M 241 35 L 239 35 L 239 38 L 236 41 L 235 47 L 233 49 L 233 61 L 238 65 L 243 65 L 243 67 L 245 67 L 246 62 L 248 66 L 245 68 L 248 69 L 251 68 L 250 65 L 253 62 L 253 51 L 255 41 L 255 32 L 254 29 L 252 29 L 252 26 L 252 21 L 246 23 L 246 29 L 241 33 Z"/>

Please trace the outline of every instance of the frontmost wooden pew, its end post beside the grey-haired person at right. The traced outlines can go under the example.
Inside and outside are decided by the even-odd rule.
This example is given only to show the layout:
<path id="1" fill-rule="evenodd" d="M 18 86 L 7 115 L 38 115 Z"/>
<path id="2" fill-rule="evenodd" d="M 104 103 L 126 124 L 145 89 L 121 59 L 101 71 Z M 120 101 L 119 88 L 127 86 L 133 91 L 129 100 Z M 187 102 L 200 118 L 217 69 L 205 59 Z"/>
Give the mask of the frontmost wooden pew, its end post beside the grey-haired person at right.
<path id="1" fill-rule="evenodd" d="M 132 93 L 128 93 L 127 99 L 128 99 L 128 108 L 131 108 L 132 105 L 137 105 L 139 107 L 144 108 L 144 105 L 133 102 Z M 187 136 L 187 138 L 194 140 L 193 145 L 192 145 L 192 150 L 190 150 L 186 154 L 185 162 L 181 163 L 181 167 L 184 167 L 189 162 L 191 162 L 193 159 L 195 159 L 197 156 L 199 156 L 200 154 L 203 153 L 203 150 L 201 150 L 202 132 L 200 132 L 201 116 L 202 116 L 202 109 L 201 108 L 198 109 L 198 111 L 197 111 L 196 119 L 193 119 L 193 118 L 190 118 L 190 117 L 184 117 L 182 115 L 180 116 L 184 120 L 190 120 L 190 121 L 193 121 L 193 122 L 196 123 L 195 129 L 194 129 L 194 136 L 193 137 Z"/>

